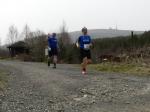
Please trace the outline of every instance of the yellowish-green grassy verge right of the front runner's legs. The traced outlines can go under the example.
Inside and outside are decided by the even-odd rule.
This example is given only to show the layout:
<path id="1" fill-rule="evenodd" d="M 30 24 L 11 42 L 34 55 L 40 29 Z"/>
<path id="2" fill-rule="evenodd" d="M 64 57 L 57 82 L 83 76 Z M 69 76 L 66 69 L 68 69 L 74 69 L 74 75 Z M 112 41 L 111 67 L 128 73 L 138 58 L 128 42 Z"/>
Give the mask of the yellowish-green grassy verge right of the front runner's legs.
<path id="1" fill-rule="evenodd" d="M 150 75 L 150 65 L 142 63 L 101 63 L 89 67 L 101 72 Z"/>

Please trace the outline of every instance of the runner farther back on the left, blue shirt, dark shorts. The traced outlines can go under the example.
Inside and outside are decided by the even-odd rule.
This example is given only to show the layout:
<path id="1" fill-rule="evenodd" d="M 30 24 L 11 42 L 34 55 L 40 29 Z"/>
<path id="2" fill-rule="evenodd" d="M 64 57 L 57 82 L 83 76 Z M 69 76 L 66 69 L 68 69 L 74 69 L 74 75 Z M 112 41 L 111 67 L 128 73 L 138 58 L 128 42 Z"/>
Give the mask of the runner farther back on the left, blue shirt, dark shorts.
<path id="1" fill-rule="evenodd" d="M 50 66 L 50 58 L 53 58 L 54 67 L 56 68 L 57 56 L 58 56 L 58 41 L 56 38 L 56 33 L 53 33 L 52 36 L 48 35 L 48 66 Z"/>

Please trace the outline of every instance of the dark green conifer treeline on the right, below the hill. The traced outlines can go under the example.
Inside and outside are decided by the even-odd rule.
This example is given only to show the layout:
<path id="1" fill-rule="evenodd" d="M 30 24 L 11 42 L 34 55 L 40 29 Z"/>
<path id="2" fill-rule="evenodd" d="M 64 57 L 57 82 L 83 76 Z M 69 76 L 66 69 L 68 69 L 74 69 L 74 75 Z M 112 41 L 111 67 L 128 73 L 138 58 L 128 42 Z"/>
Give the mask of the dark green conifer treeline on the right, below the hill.
<path id="1" fill-rule="evenodd" d="M 133 52 L 133 49 L 150 47 L 150 31 L 141 35 L 102 38 L 93 40 L 94 51 L 99 53 Z"/>

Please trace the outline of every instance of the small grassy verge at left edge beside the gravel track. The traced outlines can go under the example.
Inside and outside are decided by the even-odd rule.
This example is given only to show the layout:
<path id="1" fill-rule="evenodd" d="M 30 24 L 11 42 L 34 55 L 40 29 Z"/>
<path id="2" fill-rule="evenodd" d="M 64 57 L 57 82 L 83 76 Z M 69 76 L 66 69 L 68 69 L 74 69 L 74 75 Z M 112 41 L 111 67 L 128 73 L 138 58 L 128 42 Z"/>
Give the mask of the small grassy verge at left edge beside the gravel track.
<path id="1" fill-rule="evenodd" d="M 0 70 L 0 90 L 3 90 L 7 86 L 8 73 Z"/>

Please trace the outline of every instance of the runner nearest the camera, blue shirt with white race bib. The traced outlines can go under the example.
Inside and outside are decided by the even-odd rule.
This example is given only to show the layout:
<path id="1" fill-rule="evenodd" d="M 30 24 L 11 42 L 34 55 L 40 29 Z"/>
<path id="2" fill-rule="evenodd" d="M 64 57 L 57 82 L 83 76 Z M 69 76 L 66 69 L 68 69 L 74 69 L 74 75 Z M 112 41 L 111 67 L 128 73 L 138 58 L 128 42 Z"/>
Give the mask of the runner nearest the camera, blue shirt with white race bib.
<path id="1" fill-rule="evenodd" d="M 80 48 L 82 74 L 86 74 L 87 64 L 92 62 L 90 51 L 92 41 L 91 37 L 87 34 L 88 30 L 86 27 L 82 28 L 82 33 L 83 35 L 78 38 L 76 45 Z"/>

